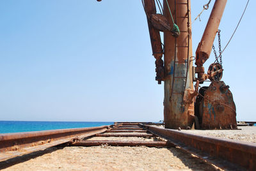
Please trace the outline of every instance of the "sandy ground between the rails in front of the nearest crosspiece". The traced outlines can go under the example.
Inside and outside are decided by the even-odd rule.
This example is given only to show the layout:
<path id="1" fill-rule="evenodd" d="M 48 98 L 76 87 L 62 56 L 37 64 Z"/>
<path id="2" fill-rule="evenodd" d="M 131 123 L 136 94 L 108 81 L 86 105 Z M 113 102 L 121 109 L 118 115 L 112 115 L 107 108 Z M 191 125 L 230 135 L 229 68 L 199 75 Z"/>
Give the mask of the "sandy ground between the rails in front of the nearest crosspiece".
<path id="1" fill-rule="evenodd" d="M 56 147 L 55 147 L 56 148 Z M 177 148 L 64 147 L 3 170 L 217 170 Z"/>

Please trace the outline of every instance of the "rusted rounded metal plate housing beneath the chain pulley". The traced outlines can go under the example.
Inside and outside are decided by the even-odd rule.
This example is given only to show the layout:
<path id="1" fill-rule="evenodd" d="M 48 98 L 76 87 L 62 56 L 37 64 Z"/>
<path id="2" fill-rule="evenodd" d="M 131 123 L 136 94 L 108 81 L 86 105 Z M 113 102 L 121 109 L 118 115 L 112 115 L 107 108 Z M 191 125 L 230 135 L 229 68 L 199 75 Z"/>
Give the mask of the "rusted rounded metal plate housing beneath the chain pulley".
<path id="1" fill-rule="evenodd" d="M 196 98 L 200 128 L 236 129 L 236 105 L 228 85 L 223 81 L 212 81 L 207 89 L 202 87 L 200 92 L 204 92 Z"/>

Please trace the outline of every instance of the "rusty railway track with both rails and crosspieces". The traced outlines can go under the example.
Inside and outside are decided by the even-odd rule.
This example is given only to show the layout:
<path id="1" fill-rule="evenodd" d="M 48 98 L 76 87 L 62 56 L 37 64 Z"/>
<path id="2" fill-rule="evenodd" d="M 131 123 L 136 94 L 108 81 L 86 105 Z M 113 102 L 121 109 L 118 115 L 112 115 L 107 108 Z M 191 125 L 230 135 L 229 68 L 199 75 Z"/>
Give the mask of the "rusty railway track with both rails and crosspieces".
<path id="1" fill-rule="evenodd" d="M 90 140 L 88 137 L 154 137 L 145 140 Z M 179 147 L 201 160 L 228 170 L 256 170 L 256 145 L 164 129 L 154 123 L 115 123 L 112 126 L 30 133 L 0 134 L 0 161 L 56 145 Z"/>

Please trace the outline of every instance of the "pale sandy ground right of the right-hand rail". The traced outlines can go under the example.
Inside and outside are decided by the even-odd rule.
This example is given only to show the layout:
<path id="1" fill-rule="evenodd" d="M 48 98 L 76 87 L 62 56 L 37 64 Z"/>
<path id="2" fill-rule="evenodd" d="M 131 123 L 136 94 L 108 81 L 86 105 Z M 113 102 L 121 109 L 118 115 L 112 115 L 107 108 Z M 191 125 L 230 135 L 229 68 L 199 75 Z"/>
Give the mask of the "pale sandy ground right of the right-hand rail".
<path id="1" fill-rule="evenodd" d="M 256 143 L 256 126 L 238 126 L 241 130 L 181 130 L 209 137 L 229 138 L 243 142 Z"/>

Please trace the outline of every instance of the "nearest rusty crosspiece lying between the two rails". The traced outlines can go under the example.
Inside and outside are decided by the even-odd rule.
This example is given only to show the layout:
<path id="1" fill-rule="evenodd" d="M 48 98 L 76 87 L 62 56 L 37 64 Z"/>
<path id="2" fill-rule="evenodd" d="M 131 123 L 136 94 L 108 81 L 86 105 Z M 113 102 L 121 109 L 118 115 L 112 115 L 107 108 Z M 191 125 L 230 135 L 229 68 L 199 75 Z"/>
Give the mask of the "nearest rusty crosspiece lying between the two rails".
<path id="1" fill-rule="evenodd" d="M 71 146 L 99 146 L 99 145 L 111 145 L 111 146 L 147 146 L 147 147 L 174 147 L 171 142 L 164 141 L 113 141 L 113 140 L 85 140 L 77 141 Z"/>

